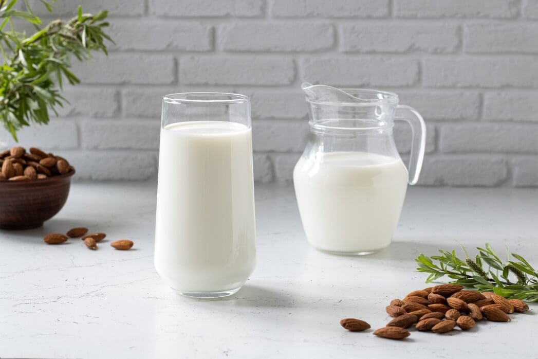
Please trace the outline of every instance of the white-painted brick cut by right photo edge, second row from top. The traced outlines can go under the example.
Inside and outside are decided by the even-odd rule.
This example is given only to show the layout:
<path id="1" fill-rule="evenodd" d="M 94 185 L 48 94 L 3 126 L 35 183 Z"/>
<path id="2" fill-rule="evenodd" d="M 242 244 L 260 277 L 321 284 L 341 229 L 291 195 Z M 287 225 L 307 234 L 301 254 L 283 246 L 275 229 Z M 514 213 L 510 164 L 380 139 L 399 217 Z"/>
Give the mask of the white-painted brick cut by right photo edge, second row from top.
<path id="1" fill-rule="evenodd" d="M 538 24 L 495 23 L 465 25 L 465 52 L 538 53 Z"/>

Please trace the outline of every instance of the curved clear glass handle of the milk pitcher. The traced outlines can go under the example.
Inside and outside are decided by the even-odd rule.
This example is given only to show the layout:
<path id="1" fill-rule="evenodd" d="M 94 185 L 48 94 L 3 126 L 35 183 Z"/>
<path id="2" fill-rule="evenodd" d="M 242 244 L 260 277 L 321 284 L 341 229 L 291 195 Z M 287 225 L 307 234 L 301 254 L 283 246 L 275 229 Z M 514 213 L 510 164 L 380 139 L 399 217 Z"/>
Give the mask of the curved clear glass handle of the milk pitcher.
<path id="1" fill-rule="evenodd" d="M 426 149 L 426 124 L 414 108 L 407 105 L 398 105 L 394 119 L 406 121 L 412 130 L 411 153 L 409 155 L 409 184 L 414 185 L 419 180 L 424 149 Z"/>

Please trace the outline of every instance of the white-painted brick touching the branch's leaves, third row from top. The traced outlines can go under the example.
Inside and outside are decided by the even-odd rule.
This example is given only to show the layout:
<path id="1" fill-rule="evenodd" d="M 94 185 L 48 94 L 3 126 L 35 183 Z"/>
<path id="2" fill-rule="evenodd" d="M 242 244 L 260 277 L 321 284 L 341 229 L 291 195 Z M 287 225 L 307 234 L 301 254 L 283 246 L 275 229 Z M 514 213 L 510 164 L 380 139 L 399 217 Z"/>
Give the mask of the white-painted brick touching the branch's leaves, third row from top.
<path id="1" fill-rule="evenodd" d="M 167 84 L 175 81 L 174 59 L 165 55 L 111 54 L 73 62 L 82 83 Z"/>

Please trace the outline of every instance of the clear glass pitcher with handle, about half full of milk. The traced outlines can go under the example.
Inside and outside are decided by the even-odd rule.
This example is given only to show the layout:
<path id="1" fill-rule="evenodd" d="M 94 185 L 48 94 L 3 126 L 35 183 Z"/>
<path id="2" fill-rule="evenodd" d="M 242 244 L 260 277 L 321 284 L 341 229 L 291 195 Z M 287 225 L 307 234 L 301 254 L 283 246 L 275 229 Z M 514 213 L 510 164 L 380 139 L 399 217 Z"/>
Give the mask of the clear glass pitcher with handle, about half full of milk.
<path id="1" fill-rule="evenodd" d="M 310 138 L 293 172 L 308 242 L 343 255 L 365 255 L 392 241 L 407 183 L 419 179 L 426 125 L 398 95 L 303 83 Z M 394 119 L 413 130 L 408 170 L 396 149 Z"/>

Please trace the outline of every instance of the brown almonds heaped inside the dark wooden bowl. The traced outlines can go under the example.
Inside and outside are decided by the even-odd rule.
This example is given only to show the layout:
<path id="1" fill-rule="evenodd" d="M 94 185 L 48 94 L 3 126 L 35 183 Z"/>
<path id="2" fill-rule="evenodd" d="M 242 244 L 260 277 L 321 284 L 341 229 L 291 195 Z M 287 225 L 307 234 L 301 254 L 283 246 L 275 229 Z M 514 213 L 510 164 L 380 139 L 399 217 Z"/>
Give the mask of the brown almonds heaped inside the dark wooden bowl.
<path id="1" fill-rule="evenodd" d="M 12 147 L 0 153 L 0 165 L 0 181 L 45 179 L 75 169 L 65 158 L 45 153 L 36 147 L 31 147 L 30 152 L 23 147 Z"/>

